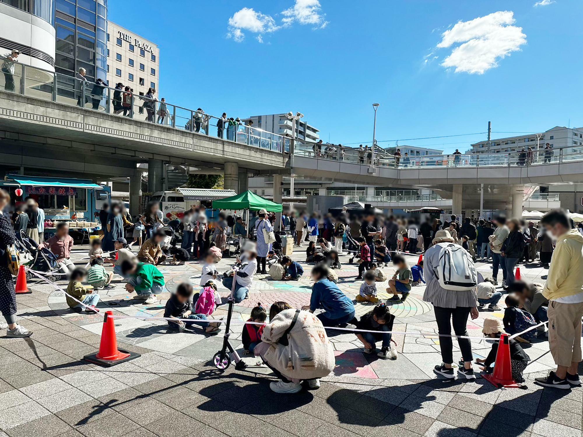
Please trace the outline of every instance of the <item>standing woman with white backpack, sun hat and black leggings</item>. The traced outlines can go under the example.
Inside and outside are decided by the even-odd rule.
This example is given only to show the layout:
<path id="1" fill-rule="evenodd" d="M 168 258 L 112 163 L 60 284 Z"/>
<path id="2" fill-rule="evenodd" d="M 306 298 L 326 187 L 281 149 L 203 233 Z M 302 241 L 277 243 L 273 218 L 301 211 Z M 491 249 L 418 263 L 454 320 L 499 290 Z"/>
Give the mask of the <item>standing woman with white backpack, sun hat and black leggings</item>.
<path id="1" fill-rule="evenodd" d="M 433 246 L 425 252 L 424 276 L 427 281 L 423 300 L 431 302 L 436 315 L 440 337 L 441 365 L 435 366 L 434 373 L 444 378 L 455 378 L 452 363 L 453 341 L 451 326 L 456 336 L 468 336 L 468 317 L 478 316 L 477 272 L 472 257 L 461 246 L 454 244 L 448 230 L 436 232 Z M 464 366 L 458 368 L 458 378 L 476 379 L 472 369 L 472 343 L 469 339 L 458 338 Z"/>

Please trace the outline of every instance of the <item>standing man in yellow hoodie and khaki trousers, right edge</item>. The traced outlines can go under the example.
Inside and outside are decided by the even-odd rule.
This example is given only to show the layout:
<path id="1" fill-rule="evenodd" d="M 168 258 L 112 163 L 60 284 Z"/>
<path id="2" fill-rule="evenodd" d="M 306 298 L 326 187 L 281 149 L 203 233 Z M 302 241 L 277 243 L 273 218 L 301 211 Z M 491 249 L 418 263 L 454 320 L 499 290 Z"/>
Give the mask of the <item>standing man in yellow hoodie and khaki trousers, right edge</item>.
<path id="1" fill-rule="evenodd" d="M 581 386 L 577 367 L 581 362 L 583 236 L 571 228 L 570 218 L 562 209 L 546 213 L 540 224 L 557 239 L 543 290 L 549 299 L 549 348 L 557 371 L 536 378 L 536 382 L 570 389 Z"/>

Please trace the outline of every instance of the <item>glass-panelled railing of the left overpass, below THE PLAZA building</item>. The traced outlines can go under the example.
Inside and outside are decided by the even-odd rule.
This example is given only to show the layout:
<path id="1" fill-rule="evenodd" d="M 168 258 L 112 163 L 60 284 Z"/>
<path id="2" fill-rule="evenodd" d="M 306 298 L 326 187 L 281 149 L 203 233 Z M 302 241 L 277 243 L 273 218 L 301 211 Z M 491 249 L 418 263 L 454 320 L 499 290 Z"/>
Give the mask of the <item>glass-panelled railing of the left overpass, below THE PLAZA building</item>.
<path id="1" fill-rule="evenodd" d="M 6 65 L 5 61 L 8 60 L 0 56 L 0 65 Z M 234 119 L 231 122 L 227 119 L 223 124 L 219 117 L 204 111 L 184 108 L 156 97 L 142 96 L 134 93 L 133 89 L 115 89 L 105 83 L 93 83 L 18 62 L 10 65 L 8 61 L 8 68 L 3 68 L 2 72 L 0 90 L 221 138 L 259 149 L 280 153 L 290 151 L 291 139 L 285 136 L 247 126 Z"/>

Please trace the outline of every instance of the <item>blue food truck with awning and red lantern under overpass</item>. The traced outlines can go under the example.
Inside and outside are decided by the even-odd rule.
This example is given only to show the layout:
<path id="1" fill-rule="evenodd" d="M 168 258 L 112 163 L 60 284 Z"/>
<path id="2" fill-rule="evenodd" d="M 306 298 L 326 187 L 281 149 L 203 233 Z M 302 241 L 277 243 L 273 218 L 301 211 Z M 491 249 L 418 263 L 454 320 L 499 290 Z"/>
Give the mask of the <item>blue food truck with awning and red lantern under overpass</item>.
<path id="1" fill-rule="evenodd" d="M 10 193 L 11 210 L 27 198 L 34 199 L 44 210 L 45 220 L 52 222 L 52 226 L 45 225 L 48 234 L 54 231 L 56 221 L 69 221 L 71 228 L 90 234 L 100 228 L 99 210 L 111 199 L 111 188 L 94 184 L 91 179 L 8 174 L 0 186 Z M 17 196 L 19 188 L 22 195 Z"/>

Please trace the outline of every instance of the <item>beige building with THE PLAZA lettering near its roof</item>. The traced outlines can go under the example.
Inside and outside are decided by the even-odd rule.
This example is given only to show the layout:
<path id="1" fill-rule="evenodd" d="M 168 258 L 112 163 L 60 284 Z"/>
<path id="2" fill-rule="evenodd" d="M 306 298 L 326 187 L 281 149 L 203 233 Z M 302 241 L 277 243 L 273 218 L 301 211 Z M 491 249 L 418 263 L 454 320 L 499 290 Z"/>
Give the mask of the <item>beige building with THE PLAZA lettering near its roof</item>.
<path id="1" fill-rule="evenodd" d="M 119 24 L 108 22 L 107 82 L 110 87 L 121 82 L 144 96 L 150 87 L 159 89 L 159 66 L 160 49 L 156 44 Z"/>

